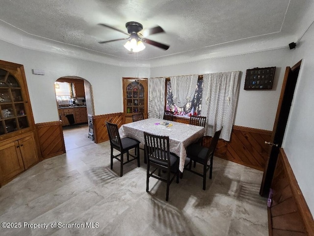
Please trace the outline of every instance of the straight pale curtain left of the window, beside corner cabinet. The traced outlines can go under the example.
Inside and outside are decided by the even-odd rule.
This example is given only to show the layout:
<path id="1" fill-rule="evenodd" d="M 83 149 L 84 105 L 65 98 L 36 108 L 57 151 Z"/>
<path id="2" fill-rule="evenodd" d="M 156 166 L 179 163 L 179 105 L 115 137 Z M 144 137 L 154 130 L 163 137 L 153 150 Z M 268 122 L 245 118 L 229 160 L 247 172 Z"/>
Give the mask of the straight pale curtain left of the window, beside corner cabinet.
<path id="1" fill-rule="evenodd" d="M 148 79 L 148 118 L 163 118 L 166 78 Z"/>

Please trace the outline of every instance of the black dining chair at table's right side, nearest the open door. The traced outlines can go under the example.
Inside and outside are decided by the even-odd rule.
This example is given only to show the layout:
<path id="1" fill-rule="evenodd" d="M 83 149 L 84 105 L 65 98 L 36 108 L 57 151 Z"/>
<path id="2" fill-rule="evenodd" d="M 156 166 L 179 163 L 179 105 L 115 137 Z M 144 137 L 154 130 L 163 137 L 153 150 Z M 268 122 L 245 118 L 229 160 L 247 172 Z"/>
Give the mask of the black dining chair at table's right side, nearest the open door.
<path id="1" fill-rule="evenodd" d="M 200 144 L 191 144 L 186 148 L 186 165 L 184 170 L 190 171 L 198 176 L 203 177 L 203 189 L 206 189 L 206 176 L 207 172 L 209 171 L 209 178 L 212 177 L 212 163 L 213 163 L 213 156 L 214 151 L 216 149 L 219 136 L 221 134 L 221 130 L 215 132 L 214 137 L 211 140 L 209 148 L 206 148 Z M 198 173 L 192 170 L 192 161 L 203 165 L 203 173 Z M 208 163 L 209 162 L 209 163 Z"/>

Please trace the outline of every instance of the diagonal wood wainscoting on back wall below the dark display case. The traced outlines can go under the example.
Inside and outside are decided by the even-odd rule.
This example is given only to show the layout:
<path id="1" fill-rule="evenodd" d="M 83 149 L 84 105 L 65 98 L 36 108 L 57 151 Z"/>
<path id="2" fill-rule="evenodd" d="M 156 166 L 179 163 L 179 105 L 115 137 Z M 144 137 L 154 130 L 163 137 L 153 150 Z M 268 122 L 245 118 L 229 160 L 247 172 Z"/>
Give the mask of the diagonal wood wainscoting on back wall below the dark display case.
<path id="1" fill-rule="evenodd" d="M 269 148 L 265 141 L 270 136 L 268 130 L 234 125 L 230 142 L 219 140 L 215 156 L 263 171 Z M 205 137 L 203 144 L 209 146 L 210 141 L 211 137 Z"/>

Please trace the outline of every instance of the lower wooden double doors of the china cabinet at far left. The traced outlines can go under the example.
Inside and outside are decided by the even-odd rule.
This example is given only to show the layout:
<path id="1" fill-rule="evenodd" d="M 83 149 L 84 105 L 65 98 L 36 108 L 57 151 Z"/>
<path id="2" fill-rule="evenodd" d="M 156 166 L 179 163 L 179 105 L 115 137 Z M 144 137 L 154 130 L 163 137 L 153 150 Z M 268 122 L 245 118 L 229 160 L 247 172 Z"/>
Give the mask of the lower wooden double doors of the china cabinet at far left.
<path id="1" fill-rule="evenodd" d="M 39 162 L 33 132 L 1 142 L 0 186 Z"/>

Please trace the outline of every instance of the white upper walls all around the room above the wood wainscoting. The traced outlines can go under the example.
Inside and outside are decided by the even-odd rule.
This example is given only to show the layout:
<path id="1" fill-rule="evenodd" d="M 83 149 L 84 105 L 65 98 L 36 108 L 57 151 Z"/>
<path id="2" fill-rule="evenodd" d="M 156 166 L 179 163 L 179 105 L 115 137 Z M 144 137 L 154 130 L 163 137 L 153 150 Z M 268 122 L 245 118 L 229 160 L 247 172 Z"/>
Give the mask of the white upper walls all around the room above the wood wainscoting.
<path id="1" fill-rule="evenodd" d="M 35 123 L 58 120 L 53 83 L 63 76 L 78 76 L 88 80 L 93 87 L 95 115 L 102 115 L 123 111 L 122 77 L 159 77 L 239 70 L 242 71 L 242 76 L 235 125 L 265 130 L 272 130 L 273 127 L 286 66 L 303 59 L 283 147 L 313 214 L 313 39 L 314 26 L 304 35 L 295 50 L 283 48 L 198 61 L 193 61 L 195 58 L 190 57 L 191 62 L 167 66 L 159 65 L 169 60 L 174 63 L 176 60 L 158 59 L 152 61 L 152 68 L 140 67 L 139 70 L 135 66 L 106 64 L 105 60 L 104 63 L 99 63 L 25 49 L 1 40 L 0 59 L 24 65 Z M 272 90 L 243 89 L 246 69 L 269 66 L 276 66 Z M 46 74 L 32 75 L 31 69 L 43 69 Z"/>

